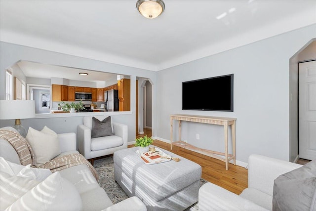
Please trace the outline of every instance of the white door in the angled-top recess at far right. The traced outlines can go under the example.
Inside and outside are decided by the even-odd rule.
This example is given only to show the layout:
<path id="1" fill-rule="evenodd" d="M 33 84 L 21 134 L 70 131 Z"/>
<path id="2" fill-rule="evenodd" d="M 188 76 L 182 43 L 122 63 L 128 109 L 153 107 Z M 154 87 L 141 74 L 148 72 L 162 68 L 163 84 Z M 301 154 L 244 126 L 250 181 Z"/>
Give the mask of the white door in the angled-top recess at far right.
<path id="1" fill-rule="evenodd" d="M 316 159 L 316 61 L 299 63 L 299 157 Z"/>

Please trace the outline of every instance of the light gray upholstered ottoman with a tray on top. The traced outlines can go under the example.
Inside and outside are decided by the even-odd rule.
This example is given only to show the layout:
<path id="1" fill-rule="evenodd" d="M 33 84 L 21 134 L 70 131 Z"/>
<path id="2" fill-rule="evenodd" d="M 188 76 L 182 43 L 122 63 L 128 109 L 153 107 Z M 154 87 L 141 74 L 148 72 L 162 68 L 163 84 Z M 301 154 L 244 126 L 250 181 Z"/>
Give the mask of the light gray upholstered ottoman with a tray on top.
<path id="1" fill-rule="evenodd" d="M 114 152 L 115 179 L 126 194 L 137 196 L 148 211 L 182 211 L 197 202 L 201 167 L 169 151 L 180 158 L 146 165 L 135 153 L 137 147 Z"/>

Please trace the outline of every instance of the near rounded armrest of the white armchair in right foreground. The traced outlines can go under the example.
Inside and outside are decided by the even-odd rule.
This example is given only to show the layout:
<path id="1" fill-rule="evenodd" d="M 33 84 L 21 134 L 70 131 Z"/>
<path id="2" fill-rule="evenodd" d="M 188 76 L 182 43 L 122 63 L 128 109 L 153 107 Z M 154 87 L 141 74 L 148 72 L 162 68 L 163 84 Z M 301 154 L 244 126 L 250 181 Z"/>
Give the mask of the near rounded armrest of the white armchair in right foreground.
<path id="1" fill-rule="evenodd" d="M 205 183 L 198 190 L 200 211 L 268 211 L 213 183 Z"/>

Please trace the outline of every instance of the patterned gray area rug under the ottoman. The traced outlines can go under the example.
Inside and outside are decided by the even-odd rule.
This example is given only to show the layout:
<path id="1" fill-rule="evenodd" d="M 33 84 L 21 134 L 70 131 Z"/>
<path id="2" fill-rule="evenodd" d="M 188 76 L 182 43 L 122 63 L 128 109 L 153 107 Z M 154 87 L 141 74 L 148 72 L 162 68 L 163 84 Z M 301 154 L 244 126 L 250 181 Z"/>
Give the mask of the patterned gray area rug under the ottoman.
<path id="1" fill-rule="evenodd" d="M 95 160 L 93 166 L 98 172 L 100 186 L 105 190 L 113 204 L 128 198 L 127 194 L 115 181 L 113 156 Z M 206 182 L 206 180 L 200 179 L 200 185 Z M 198 211 L 197 203 L 187 208 L 186 211 Z"/>

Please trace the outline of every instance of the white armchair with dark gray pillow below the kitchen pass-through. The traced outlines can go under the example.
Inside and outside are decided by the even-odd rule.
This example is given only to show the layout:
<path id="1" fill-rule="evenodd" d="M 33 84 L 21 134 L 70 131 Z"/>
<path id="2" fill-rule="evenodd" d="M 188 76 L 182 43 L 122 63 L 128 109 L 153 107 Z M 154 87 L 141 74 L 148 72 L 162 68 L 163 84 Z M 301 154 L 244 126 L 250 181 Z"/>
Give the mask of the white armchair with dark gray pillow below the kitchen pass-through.
<path id="1" fill-rule="evenodd" d="M 102 121 L 108 116 L 95 116 Z M 114 135 L 91 138 L 92 116 L 83 117 L 83 125 L 78 126 L 79 152 L 93 165 L 94 158 L 111 155 L 115 151 L 127 148 L 127 125 L 113 123 Z"/>

